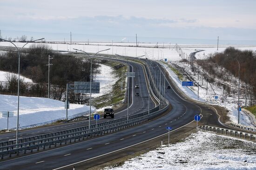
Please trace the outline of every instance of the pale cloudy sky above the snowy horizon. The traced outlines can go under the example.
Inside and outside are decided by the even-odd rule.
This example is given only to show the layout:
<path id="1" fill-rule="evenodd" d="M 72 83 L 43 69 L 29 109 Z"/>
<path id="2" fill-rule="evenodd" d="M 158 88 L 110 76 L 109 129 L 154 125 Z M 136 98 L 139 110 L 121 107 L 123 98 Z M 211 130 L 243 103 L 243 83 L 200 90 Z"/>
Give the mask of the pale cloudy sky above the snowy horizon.
<path id="1" fill-rule="evenodd" d="M 3 38 L 256 44 L 256 0 L 0 0 Z M 34 35 L 34 36 L 33 36 Z M 193 41 L 192 41 L 193 42 Z"/>

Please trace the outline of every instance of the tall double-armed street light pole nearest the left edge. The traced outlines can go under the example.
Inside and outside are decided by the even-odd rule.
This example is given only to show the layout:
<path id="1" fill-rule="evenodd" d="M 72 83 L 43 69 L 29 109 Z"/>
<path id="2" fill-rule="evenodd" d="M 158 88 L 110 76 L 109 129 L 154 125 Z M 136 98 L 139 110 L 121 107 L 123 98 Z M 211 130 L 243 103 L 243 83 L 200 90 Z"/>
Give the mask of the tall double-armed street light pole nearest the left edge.
<path id="1" fill-rule="evenodd" d="M 17 49 L 17 51 L 18 51 L 18 56 L 19 56 L 19 66 L 18 66 L 18 104 L 17 104 L 17 129 L 16 129 L 16 144 L 18 144 L 18 133 L 19 133 L 19 108 L 20 108 L 20 52 L 21 52 L 21 50 L 24 48 L 24 46 L 25 45 L 27 45 L 28 43 L 33 43 L 33 42 L 35 42 L 35 41 L 39 41 L 39 40 L 42 40 L 42 39 L 44 39 L 44 38 L 40 38 L 40 39 L 36 39 L 36 40 L 33 40 L 33 41 L 29 41 L 29 42 L 27 42 L 26 44 L 24 44 L 23 46 L 22 46 L 22 48 L 19 50 L 19 48 L 15 45 L 15 44 L 13 44 L 13 42 L 11 42 L 11 41 L 8 41 L 8 40 L 6 40 L 6 39 L 2 39 L 2 38 L 0 38 L 0 40 L 2 40 L 2 41 L 7 41 L 7 42 L 9 42 L 9 43 L 12 43 L 15 47 L 16 47 L 16 49 Z M 18 145 L 17 145 L 18 146 Z"/>

